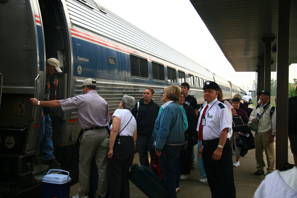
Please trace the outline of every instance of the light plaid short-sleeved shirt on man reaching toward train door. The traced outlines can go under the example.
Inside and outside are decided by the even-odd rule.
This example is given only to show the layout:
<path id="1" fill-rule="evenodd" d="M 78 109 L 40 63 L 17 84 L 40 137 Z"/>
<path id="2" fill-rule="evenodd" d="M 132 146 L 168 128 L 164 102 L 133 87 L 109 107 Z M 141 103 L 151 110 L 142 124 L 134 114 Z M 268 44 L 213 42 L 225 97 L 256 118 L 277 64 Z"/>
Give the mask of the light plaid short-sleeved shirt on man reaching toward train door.
<path id="1" fill-rule="evenodd" d="M 97 91 L 60 100 L 63 111 L 75 109 L 81 128 L 107 126 L 110 117 L 107 102 L 98 95 Z"/>

